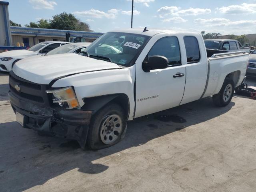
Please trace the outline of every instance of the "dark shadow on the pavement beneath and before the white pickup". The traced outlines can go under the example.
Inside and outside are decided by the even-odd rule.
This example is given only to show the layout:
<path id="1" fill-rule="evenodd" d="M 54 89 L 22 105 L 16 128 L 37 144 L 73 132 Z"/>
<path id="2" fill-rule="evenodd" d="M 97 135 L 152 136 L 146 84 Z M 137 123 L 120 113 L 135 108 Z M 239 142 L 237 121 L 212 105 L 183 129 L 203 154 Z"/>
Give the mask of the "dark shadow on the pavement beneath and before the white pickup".
<path id="1" fill-rule="evenodd" d="M 126 137 L 119 144 L 98 151 L 81 150 L 74 141 L 38 136 L 16 122 L 0 124 L 0 186 L 3 191 L 21 192 L 70 170 L 98 174 L 108 169 L 98 160 L 122 150 L 143 145 L 152 139 L 205 122 L 228 112 L 212 104 L 211 97 L 128 122 Z M 200 130 L 198 130 L 199 132 Z M 186 134 L 186 133 L 184 133 Z"/>

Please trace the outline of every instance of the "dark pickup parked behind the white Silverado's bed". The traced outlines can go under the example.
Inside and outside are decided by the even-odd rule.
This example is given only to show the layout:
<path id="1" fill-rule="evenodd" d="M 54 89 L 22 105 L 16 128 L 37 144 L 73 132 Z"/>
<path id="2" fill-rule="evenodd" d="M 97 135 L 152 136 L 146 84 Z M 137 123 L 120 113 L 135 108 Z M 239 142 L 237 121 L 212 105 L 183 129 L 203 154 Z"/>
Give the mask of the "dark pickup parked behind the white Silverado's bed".
<path id="1" fill-rule="evenodd" d="M 206 39 L 204 40 L 206 49 L 221 50 L 221 51 L 246 51 L 250 53 L 248 47 L 243 47 L 237 40 L 231 39 Z"/>

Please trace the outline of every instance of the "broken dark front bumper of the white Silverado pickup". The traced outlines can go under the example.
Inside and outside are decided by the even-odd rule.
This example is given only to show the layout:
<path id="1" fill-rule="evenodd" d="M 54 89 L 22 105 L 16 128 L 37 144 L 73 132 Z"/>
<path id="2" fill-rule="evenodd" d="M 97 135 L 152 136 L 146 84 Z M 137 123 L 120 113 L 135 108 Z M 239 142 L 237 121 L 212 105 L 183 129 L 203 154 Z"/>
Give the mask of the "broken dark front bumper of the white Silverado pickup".
<path id="1" fill-rule="evenodd" d="M 8 94 L 14 112 L 24 116 L 24 128 L 48 136 L 74 139 L 81 148 L 85 147 L 92 111 L 51 108 L 21 100 L 12 92 Z"/>

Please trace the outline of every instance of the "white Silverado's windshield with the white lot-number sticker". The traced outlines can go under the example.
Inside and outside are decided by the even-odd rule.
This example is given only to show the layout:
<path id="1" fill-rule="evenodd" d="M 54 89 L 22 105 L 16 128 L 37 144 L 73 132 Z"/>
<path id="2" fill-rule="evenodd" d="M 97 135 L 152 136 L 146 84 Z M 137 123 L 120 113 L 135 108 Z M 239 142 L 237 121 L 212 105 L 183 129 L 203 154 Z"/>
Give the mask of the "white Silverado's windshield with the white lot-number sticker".
<path id="1" fill-rule="evenodd" d="M 88 46 L 86 52 L 91 58 L 130 66 L 149 38 L 140 34 L 108 32 Z"/>

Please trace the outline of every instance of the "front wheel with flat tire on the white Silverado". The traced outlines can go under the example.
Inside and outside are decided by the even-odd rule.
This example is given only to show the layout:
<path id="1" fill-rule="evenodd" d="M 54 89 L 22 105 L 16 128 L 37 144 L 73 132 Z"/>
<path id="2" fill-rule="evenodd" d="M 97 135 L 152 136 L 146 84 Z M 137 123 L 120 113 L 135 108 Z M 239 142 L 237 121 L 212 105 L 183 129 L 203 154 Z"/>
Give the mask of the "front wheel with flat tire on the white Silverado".
<path id="1" fill-rule="evenodd" d="M 124 138 L 126 127 L 126 115 L 120 105 L 110 103 L 104 106 L 92 117 L 88 147 L 99 150 L 117 144 Z"/>

